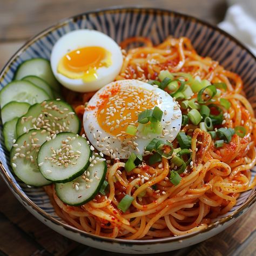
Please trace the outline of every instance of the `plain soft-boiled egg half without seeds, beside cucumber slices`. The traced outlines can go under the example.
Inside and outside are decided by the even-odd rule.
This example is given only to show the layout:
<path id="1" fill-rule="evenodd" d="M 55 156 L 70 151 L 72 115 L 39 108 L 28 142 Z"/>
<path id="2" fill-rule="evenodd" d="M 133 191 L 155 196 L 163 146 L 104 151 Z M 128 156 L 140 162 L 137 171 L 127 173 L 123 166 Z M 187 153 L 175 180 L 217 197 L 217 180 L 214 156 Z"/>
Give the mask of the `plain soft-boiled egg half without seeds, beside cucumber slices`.
<path id="1" fill-rule="evenodd" d="M 100 89 L 114 80 L 122 64 L 118 44 L 96 30 L 69 32 L 57 41 L 51 52 L 53 74 L 72 91 Z"/>

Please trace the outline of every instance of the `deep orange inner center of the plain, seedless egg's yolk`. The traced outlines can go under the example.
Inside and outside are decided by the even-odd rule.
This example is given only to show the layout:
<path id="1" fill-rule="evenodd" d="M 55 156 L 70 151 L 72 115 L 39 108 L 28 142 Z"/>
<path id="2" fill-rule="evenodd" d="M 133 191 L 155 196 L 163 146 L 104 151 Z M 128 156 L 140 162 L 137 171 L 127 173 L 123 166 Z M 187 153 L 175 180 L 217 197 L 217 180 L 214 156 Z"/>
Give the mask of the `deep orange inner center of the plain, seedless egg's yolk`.
<path id="1" fill-rule="evenodd" d="M 99 46 L 87 46 L 67 53 L 63 57 L 65 69 L 73 72 L 86 72 L 104 65 L 107 51 Z"/>

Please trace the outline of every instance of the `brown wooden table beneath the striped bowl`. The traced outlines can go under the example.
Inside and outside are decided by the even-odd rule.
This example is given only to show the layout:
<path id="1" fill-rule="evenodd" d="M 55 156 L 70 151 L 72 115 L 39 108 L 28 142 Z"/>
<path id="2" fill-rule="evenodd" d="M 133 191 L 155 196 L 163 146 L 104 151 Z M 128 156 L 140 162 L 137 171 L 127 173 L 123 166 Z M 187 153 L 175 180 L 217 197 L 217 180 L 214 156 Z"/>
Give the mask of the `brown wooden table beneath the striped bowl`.
<path id="1" fill-rule="evenodd" d="M 217 24 L 226 5 L 221 0 L 0 0 L 0 69 L 31 36 L 59 19 L 123 4 L 158 6 Z M 120 255 L 78 244 L 52 231 L 18 203 L 0 178 L 0 255 Z M 256 207 L 232 227 L 198 245 L 164 255 L 256 255 Z M 124 254 L 125 255 L 125 254 Z"/>

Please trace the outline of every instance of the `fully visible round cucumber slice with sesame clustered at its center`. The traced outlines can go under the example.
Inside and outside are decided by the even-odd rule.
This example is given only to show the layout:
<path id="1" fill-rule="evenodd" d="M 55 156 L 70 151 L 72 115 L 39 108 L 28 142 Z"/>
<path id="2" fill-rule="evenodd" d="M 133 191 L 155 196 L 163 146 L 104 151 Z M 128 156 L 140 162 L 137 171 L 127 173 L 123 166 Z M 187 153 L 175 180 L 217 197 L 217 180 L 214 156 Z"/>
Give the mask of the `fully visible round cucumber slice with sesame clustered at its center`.
<path id="1" fill-rule="evenodd" d="M 62 132 L 41 146 L 37 163 L 45 179 L 66 183 L 87 169 L 91 156 L 92 151 L 85 138 L 72 132 Z"/>

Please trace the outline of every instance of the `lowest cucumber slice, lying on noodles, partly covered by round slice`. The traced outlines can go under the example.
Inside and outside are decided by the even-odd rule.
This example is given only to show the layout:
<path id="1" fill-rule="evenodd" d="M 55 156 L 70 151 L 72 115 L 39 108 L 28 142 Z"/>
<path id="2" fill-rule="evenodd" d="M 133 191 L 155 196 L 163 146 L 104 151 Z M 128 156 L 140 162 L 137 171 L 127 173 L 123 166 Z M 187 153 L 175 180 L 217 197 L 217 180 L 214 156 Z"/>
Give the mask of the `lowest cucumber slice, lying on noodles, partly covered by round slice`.
<path id="1" fill-rule="evenodd" d="M 106 161 L 97 161 L 95 165 L 85 171 L 83 176 L 65 184 L 55 184 L 56 194 L 60 200 L 68 205 L 83 205 L 95 198 L 105 180 L 106 171 Z M 90 173 L 89 176 L 86 176 L 87 172 Z"/>

